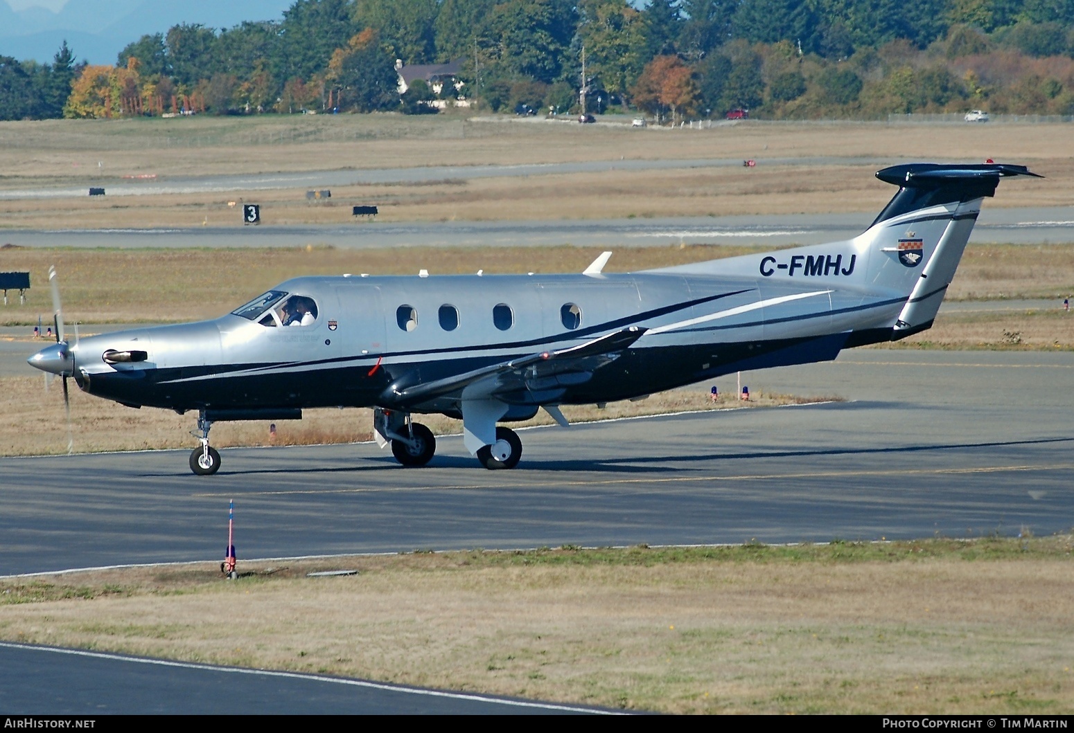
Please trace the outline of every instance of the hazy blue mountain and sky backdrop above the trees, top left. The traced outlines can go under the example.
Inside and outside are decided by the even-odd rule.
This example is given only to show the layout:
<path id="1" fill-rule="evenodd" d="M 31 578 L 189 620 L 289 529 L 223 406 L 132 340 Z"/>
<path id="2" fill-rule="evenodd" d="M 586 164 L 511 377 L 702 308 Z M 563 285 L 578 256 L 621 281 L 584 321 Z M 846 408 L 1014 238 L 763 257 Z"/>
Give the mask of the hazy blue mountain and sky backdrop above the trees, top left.
<path id="1" fill-rule="evenodd" d="M 78 60 L 116 62 L 124 46 L 180 23 L 231 28 L 244 20 L 279 19 L 294 0 L 69 0 L 59 13 L 15 12 L 0 0 L 0 55 L 52 61 L 66 39 Z"/>

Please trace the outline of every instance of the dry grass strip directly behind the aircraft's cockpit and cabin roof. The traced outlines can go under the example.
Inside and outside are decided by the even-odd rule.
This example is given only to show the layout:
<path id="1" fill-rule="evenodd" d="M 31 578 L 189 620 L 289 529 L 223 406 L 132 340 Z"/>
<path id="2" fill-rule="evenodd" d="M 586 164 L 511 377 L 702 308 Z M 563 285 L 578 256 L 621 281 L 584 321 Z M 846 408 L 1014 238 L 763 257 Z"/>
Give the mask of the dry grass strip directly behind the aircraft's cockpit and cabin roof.
<path id="1" fill-rule="evenodd" d="M 760 247 L 624 247 L 608 272 L 637 272 L 750 252 Z M 48 266 L 60 275 L 71 323 L 192 321 L 226 313 L 260 292 L 301 275 L 579 273 L 600 253 L 595 247 L 397 249 L 0 249 L 0 270 L 28 270 L 26 306 L 0 308 L 0 325 L 37 323 L 52 313 Z M 251 268 L 250 263 L 257 267 Z M 1074 293 L 1074 246 L 978 245 L 967 248 L 949 299 L 1062 300 Z M 1065 341 L 1064 341 L 1065 342 Z"/>

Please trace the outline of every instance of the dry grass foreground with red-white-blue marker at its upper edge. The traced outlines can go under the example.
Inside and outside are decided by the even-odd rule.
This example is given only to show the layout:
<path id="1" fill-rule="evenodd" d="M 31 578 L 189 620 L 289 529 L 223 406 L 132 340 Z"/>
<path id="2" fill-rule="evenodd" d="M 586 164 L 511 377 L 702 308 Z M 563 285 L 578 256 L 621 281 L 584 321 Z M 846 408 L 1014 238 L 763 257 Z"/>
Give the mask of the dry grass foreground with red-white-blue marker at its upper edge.
<path id="1" fill-rule="evenodd" d="M 108 571 L 8 582 L 0 636 L 669 713 L 1062 714 L 1070 538 L 1032 542 L 1050 551 L 241 560 L 237 582 L 206 566 Z M 361 574 L 304 576 L 332 568 Z"/>

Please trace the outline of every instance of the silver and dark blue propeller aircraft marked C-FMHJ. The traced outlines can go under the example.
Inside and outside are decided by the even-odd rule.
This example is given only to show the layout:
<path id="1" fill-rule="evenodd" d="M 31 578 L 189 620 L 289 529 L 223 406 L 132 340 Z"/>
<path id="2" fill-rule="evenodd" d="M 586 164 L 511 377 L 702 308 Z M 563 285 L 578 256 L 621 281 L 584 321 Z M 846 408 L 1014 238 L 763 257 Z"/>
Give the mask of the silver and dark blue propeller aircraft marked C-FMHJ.
<path id="1" fill-rule="evenodd" d="M 423 466 L 436 440 L 415 413 L 462 419 L 466 449 L 513 468 L 502 422 L 610 402 L 736 370 L 832 360 L 932 325 L 981 202 L 1022 165 L 896 165 L 899 187 L 859 236 L 640 273 L 300 277 L 201 323 L 64 340 L 32 366 L 133 408 L 198 414 L 198 474 L 220 468 L 213 423 L 372 407 L 377 441 Z M 1040 176 L 1036 176 L 1040 177 Z M 579 450 L 584 450 L 581 448 Z"/>

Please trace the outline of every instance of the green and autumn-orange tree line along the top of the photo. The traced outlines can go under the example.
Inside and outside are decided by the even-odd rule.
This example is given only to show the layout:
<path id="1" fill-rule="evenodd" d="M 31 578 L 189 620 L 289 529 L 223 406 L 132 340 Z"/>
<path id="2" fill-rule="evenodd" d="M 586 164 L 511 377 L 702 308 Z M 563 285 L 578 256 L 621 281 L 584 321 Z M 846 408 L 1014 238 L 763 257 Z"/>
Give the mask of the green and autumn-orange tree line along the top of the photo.
<path id="1" fill-rule="evenodd" d="M 49 64 L 0 56 L 0 118 L 429 112 L 434 96 L 671 120 L 1072 114 L 1072 57 L 1074 0 L 296 0 L 279 20 L 143 35 L 115 65 L 66 43 Z M 396 60 L 459 60 L 462 86 L 401 99 Z"/>

